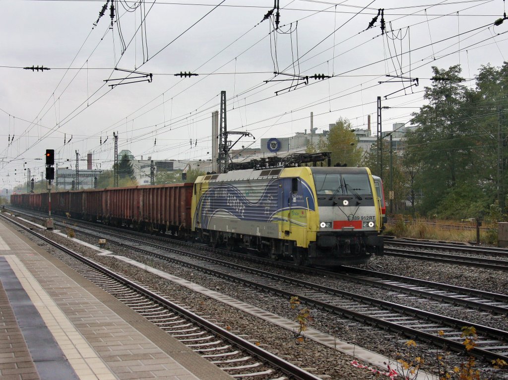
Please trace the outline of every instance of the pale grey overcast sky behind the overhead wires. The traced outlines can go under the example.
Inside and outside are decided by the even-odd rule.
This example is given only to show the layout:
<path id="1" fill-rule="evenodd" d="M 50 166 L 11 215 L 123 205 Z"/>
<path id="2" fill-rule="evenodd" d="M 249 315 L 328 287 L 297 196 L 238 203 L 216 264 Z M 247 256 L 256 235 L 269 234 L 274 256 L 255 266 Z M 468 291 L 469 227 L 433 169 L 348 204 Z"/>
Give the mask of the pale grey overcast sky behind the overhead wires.
<path id="1" fill-rule="evenodd" d="M 40 179 L 47 148 L 59 167 L 74 168 L 77 150 L 110 169 L 113 132 L 118 150 L 136 159 L 209 159 L 221 90 L 228 130 L 256 137 L 239 145 L 309 130 L 310 112 L 317 132 L 339 117 L 364 129 L 368 114 L 375 130 L 377 96 L 392 107 L 383 110 L 383 130 L 391 130 L 424 104 L 432 66 L 460 64 L 474 79 L 481 65 L 498 67 L 508 55 L 508 21 L 492 24 L 502 0 L 280 0 L 276 31 L 273 17 L 262 21 L 273 0 L 115 1 L 112 28 L 111 2 L 97 22 L 106 0 L 1 4 L 0 187 L 8 188 L 26 181 L 26 168 Z M 381 16 L 366 30 L 379 8 L 383 35 Z M 51 70 L 22 69 L 31 66 Z M 305 85 L 270 81 L 294 78 L 274 72 L 333 77 Z M 387 74 L 419 78 L 419 86 L 379 84 Z M 138 78 L 105 81 L 129 76 Z"/>

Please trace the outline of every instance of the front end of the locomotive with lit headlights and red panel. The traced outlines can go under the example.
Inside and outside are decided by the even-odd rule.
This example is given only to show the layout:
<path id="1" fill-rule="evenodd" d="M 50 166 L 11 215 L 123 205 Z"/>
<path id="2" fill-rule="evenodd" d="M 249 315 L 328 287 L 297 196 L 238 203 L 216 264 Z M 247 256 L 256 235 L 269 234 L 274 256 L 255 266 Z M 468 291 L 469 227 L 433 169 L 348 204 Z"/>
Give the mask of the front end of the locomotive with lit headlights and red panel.
<path id="1" fill-rule="evenodd" d="M 315 167 L 310 171 L 318 226 L 306 260 L 319 266 L 360 264 L 372 254 L 382 254 L 379 199 L 370 170 Z"/>

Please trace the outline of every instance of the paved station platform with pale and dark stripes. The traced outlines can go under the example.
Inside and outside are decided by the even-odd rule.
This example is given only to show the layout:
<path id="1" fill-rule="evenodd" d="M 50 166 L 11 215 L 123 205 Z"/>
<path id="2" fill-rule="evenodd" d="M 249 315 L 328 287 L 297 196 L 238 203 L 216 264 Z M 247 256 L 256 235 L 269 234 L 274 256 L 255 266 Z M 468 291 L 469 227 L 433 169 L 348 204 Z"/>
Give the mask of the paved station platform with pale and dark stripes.
<path id="1" fill-rule="evenodd" d="M 0 220 L 0 378 L 232 377 Z"/>

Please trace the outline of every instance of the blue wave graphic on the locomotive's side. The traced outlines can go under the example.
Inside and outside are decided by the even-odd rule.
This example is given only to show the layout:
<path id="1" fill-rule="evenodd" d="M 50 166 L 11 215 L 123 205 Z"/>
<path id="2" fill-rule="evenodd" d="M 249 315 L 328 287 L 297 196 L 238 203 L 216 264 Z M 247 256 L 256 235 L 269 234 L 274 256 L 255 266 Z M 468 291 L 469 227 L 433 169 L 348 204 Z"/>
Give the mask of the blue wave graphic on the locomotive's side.
<path id="1" fill-rule="evenodd" d="M 299 182 L 300 191 L 292 195 L 291 178 L 275 179 L 266 185 L 261 196 L 258 192 L 252 196 L 248 193 L 244 195 L 236 186 L 229 183 L 211 184 L 196 207 L 196 214 L 201 214 L 201 228 L 207 229 L 210 219 L 219 212 L 227 212 L 240 220 L 271 222 L 282 220 L 277 214 L 284 210 L 314 211 L 315 202 L 310 186 L 305 181 Z M 281 183 L 282 187 L 279 186 Z"/>

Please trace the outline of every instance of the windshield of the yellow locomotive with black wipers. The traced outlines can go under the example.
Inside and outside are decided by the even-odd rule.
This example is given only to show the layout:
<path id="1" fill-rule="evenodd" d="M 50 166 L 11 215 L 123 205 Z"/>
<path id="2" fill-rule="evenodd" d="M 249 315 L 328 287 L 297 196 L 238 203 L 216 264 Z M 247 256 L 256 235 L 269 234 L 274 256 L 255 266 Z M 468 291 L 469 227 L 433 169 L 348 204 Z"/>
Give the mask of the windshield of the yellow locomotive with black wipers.
<path id="1" fill-rule="evenodd" d="M 372 195 L 365 173 L 313 173 L 317 195 Z"/>

